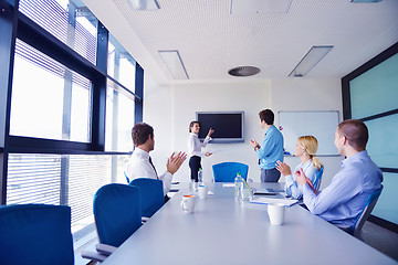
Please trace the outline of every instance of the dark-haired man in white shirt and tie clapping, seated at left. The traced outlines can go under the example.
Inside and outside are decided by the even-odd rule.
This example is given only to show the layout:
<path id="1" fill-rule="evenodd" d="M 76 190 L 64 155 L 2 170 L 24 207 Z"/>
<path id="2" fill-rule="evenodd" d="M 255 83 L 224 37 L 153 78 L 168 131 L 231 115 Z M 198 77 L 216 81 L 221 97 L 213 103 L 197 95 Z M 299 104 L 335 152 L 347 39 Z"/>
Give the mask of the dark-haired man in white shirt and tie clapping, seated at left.
<path id="1" fill-rule="evenodd" d="M 128 161 L 125 174 L 129 180 L 136 178 L 161 180 L 166 195 L 171 188 L 172 174 L 177 172 L 187 159 L 187 155 L 185 152 L 179 152 L 178 155 L 172 153 L 166 163 L 167 171 L 158 176 L 149 157 L 149 152 L 154 150 L 155 147 L 154 128 L 144 123 L 136 124 L 132 129 L 132 138 L 136 148 Z"/>

